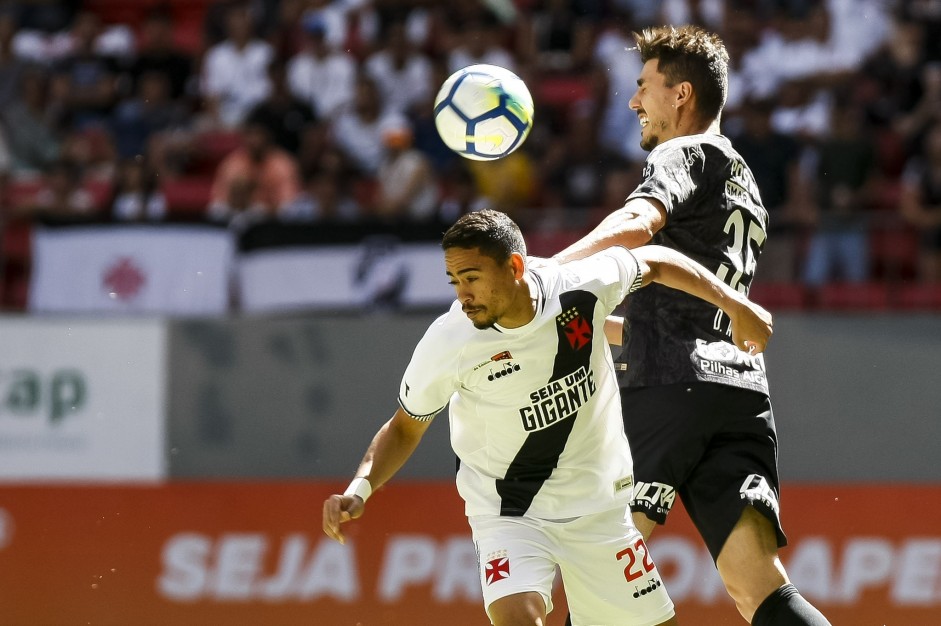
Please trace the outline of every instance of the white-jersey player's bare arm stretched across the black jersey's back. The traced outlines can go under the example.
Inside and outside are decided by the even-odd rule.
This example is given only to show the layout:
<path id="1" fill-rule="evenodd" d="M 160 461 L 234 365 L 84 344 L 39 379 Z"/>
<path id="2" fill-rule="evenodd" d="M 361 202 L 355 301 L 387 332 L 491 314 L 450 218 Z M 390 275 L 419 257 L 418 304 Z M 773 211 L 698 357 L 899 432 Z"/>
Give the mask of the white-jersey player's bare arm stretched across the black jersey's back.
<path id="1" fill-rule="evenodd" d="M 700 263 L 670 248 L 642 246 L 632 252 L 641 264 L 643 285 L 658 282 L 719 307 L 732 320 L 732 341 L 740 350 L 757 354 L 765 349 L 772 332 L 771 313 L 751 302 L 745 294 L 723 283 Z"/>

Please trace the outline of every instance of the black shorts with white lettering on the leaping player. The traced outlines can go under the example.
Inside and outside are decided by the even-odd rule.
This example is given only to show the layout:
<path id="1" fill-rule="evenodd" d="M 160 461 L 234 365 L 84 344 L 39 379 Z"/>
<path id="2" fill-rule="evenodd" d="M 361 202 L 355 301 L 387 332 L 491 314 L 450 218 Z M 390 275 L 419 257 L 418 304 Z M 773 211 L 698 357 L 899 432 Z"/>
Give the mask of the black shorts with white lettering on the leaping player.
<path id="1" fill-rule="evenodd" d="M 679 494 L 713 560 L 746 506 L 775 527 L 779 516 L 777 435 L 762 393 L 717 383 L 621 389 L 634 457 L 631 510 L 658 524 Z"/>

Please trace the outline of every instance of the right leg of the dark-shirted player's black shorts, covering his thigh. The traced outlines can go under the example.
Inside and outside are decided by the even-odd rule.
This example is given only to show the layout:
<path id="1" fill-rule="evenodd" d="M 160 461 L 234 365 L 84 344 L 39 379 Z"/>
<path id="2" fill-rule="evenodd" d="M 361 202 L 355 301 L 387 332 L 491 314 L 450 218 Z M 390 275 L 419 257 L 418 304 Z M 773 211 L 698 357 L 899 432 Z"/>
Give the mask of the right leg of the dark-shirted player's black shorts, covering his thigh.
<path id="1" fill-rule="evenodd" d="M 683 504 L 713 559 L 746 507 L 769 521 L 777 546 L 786 545 L 771 403 L 760 393 L 714 387 L 725 411 L 724 425 L 680 490 Z"/>

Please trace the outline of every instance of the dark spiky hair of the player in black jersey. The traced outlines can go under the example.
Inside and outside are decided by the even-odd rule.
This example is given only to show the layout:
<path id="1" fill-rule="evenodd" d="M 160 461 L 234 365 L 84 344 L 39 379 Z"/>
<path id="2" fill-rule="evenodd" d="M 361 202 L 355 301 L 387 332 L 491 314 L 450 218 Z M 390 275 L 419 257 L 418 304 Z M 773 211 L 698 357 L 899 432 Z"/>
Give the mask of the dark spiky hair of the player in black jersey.
<path id="1" fill-rule="evenodd" d="M 713 120 L 722 113 L 729 91 L 729 53 L 718 35 L 698 26 L 658 26 L 634 33 L 644 63 L 659 61 L 667 85 L 688 81 L 696 93 L 699 114 Z"/>

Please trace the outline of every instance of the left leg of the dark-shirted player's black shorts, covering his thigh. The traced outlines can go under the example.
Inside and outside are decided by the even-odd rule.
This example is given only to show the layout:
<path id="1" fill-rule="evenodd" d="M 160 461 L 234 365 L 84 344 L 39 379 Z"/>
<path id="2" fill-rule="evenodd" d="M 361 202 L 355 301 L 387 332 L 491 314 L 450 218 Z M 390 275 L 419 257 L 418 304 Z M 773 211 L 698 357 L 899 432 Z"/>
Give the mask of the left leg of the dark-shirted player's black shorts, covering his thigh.
<path id="1" fill-rule="evenodd" d="M 634 459 L 631 510 L 666 522 L 679 489 L 716 428 L 703 415 L 711 389 L 702 383 L 622 389 L 624 430 Z M 649 533 L 645 533 L 649 534 Z"/>

